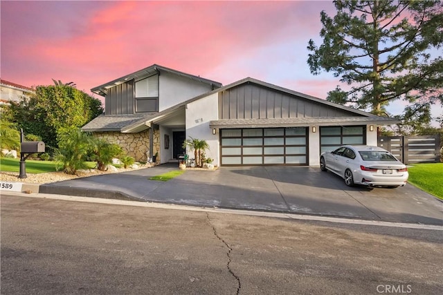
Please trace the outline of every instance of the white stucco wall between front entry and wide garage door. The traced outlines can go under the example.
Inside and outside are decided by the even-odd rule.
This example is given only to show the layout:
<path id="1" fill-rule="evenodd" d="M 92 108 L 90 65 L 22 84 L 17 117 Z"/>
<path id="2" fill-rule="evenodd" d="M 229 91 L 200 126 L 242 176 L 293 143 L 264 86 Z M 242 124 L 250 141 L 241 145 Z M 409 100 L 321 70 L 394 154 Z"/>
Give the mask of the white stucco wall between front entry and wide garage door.
<path id="1" fill-rule="evenodd" d="M 206 140 L 209 145 L 209 149 L 205 151 L 206 158 L 214 159 L 213 164 L 219 166 L 219 134 L 213 135 L 212 129 L 209 128 L 209 122 L 217 119 L 217 93 L 191 102 L 186 108 L 186 138 Z"/>

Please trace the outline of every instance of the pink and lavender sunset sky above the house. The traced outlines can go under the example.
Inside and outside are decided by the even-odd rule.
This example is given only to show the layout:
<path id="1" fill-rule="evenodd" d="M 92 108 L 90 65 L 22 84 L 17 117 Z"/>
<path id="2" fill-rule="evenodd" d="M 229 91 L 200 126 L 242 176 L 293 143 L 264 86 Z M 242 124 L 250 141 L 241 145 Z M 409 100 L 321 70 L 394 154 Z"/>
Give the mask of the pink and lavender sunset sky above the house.
<path id="1" fill-rule="evenodd" d="M 24 86 L 60 79 L 90 93 L 152 64 L 224 85 L 253 77 L 320 98 L 340 84 L 307 65 L 308 41 L 321 44 L 320 12 L 334 15 L 332 1 L 0 3 L 1 79 Z"/>

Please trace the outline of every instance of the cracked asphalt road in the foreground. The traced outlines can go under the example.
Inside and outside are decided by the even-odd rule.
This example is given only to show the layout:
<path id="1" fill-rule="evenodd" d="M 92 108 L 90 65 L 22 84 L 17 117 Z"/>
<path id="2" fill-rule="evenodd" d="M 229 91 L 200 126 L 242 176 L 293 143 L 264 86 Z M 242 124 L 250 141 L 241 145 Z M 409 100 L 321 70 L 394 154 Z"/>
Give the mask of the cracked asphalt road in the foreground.
<path id="1" fill-rule="evenodd" d="M 443 294 L 442 233 L 3 195 L 1 294 Z"/>

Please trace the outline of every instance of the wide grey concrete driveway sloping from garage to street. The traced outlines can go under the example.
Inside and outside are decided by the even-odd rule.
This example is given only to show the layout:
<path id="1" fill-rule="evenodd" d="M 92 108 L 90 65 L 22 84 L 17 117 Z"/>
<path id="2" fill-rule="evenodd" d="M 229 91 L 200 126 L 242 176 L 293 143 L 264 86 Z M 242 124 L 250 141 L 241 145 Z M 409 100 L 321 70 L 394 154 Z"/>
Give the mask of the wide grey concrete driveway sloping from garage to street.
<path id="1" fill-rule="evenodd" d="M 410 184 L 350 188 L 333 173 L 300 166 L 220 167 L 149 180 L 173 169 L 177 164 L 55 182 L 40 192 L 443 225 L 443 202 Z"/>

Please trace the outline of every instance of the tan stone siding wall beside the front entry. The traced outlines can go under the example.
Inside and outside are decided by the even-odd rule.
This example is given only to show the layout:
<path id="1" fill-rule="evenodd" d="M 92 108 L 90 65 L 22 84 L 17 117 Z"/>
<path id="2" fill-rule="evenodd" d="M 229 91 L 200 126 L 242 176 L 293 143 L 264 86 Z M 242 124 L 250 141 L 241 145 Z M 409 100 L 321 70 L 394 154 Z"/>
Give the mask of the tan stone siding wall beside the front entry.
<path id="1" fill-rule="evenodd" d="M 150 149 L 150 131 L 139 133 L 95 132 L 93 136 L 118 144 L 127 155 L 134 157 L 136 161 L 147 162 L 147 151 Z M 154 155 L 159 151 L 160 156 L 160 134 L 154 130 Z M 157 158 L 159 161 L 160 157 Z"/>

